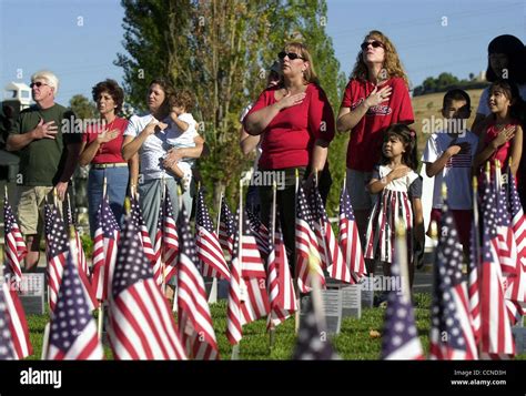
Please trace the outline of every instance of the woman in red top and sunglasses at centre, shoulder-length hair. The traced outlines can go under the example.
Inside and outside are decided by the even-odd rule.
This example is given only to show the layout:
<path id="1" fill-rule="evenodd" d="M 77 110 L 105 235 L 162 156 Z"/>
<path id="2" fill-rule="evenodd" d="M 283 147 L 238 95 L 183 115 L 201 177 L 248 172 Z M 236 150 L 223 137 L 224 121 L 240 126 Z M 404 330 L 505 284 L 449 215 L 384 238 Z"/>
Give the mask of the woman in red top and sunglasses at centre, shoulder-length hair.
<path id="1" fill-rule="evenodd" d="M 285 245 L 294 252 L 295 171 L 303 179 L 324 169 L 334 113 L 304 44 L 286 44 L 279 59 L 283 82 L 261 93 L 243 124 L 249 134 L 262 135 L 259 171 L 281 172 L 277 180 L 284 176 L 276 203 Z M 272 185 L 259 187 L 261 219 L 269 223 Z"/>

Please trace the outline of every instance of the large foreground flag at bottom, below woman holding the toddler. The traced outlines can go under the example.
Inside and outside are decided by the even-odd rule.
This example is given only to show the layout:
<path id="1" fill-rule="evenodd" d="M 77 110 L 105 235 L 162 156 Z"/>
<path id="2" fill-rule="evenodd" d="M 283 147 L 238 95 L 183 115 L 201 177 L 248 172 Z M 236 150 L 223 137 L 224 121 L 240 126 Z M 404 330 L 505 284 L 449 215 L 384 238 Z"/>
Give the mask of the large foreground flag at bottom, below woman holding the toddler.
<path id="1" fill-rule="evenodd" d="M 108 313 L 108 336 L 117 359 L 185 358 L 170 306 L 153 280 L 130 215 L 119 243 Z"/>

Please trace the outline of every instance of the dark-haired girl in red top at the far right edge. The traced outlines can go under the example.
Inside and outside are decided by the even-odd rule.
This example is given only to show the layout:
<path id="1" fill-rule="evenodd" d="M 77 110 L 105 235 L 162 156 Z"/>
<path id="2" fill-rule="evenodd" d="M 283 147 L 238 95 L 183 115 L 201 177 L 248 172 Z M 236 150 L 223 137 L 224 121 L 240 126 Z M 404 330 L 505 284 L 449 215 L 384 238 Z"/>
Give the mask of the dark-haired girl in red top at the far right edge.
<path id="1" fill-rule="evenodd" d="M 492 121 L 478 139 L 475 169 L 484 167 L 486 161 L 489 161 L 493 169 L 495 160 L 499 160 L 500 165 L 505 167 L 512 158 L 509 165 L 512 173 L 516 175 L 523 154 L 523 129 L 518 121 L 523 102 L 517 85 L 508 80 L 497 80 L 492 83 L 488 105 L 492 111 Z"/>

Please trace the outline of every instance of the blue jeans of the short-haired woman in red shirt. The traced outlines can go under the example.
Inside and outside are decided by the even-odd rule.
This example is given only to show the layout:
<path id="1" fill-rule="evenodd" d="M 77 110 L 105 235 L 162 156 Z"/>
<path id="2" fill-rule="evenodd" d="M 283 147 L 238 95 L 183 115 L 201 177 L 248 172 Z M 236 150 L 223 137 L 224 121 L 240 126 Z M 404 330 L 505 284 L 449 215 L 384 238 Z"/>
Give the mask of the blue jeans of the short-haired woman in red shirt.
<path id="1" fill-rule="evenodd" d="M 115 215 L 117 222 L 122 224 L 123 204 L 127 196 L 128 166 L 91 169 L 88 179 L 88 205 L 90 214 L 90 233 L 94 236 L 97 230 L 97 212 L 102 200 L 102 185 L 104 175 L 107 177 L 108 197 L 110 199 L 110 207 Z"/>

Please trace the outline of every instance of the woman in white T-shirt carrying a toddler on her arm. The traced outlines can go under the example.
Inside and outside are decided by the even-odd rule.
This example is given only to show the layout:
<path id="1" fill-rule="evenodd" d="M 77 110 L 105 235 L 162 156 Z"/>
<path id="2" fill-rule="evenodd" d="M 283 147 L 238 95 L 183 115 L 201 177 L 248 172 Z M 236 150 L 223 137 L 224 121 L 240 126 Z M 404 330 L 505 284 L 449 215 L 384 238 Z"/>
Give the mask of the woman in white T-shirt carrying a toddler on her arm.
<path id="1" fill-rule="evenodd" d="M 150 113 L 144 116 L 133 115 L 130 119 L 122 145 L 122 156 L 125 160 L 135 156 L 140 165 L 142 177 L 139 180 L 139 172 L 133 172 L 132 185 L 138 185 L 142 214 L 152 241 L 156 230 L 163 183 L 168 186 L 174 216 L 179 212 L 178 185 L 171 167 L 181 158 L 199 158 L 204 143 L 203 139 L 198 136 L 194 139 L 195 148 L 176 149 L 169 153 L 170 145 L 166 140 L 170 139 L 168 126 L 171 95 L 173 89 L 166 81 L 156 79 L 150 83 L 148 91 Z M 189 213 L 192 207 L 191 193 L 192 189 L 184 191 L 183 194 L 183 202 Z"/>

